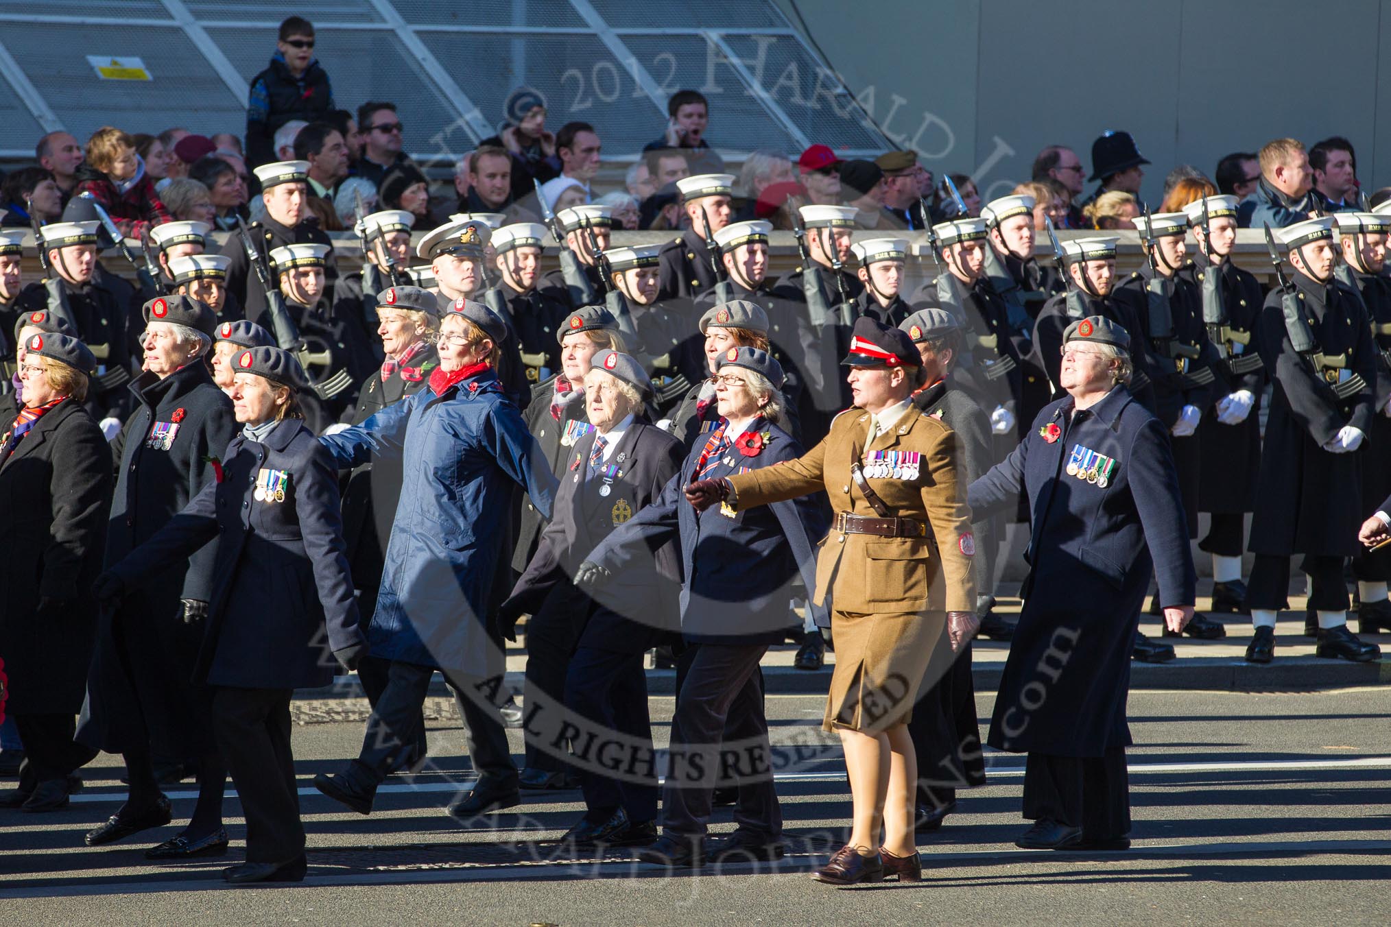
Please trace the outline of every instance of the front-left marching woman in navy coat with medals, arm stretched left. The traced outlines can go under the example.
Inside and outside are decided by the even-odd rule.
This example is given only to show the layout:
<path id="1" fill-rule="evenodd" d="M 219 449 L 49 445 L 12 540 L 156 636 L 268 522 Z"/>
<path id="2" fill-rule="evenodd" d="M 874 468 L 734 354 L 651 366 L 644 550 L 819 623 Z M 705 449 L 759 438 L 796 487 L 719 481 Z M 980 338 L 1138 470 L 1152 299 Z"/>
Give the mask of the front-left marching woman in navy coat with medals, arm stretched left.
<path id="1" fill-rule="evenodd" d="M 246 862 L 234 883 L 305 877 L 289 700 L 332 682 L 366 650 L 348 575 L 338 467 L 300 418 L 309 389 L 280 347 L 236 357 L 241 434 L 214 460 L 214 481 L 153 538 L 97 580 L 114 603 L 216 539 L 207 631 L 193 678 L 211 688 L 213 734 L 246 817 Z M 337 657 L 337 660 L 334 659 Z"/>

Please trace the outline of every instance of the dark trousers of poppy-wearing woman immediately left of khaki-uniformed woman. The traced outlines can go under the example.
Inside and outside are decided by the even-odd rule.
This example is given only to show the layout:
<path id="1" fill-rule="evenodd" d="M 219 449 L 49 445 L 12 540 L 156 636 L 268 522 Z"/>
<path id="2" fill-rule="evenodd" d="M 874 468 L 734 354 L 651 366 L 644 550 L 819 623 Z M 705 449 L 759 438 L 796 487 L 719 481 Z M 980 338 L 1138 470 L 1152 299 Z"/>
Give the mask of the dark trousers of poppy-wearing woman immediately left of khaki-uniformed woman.
<path id="1" fill-rule="evenodd" d="M 782 834 L 782 807 L 769 767 L 758 662 L 766 643 L 697 643 L 686 666 L 672 716 L 670 767 L 662 791 L 662 827 L 687 838 L 705 835 L 715 785 L 739 782 L 739 830 L 769 841 Z M 723 741 L 730 750 L 721 750 Z"/>

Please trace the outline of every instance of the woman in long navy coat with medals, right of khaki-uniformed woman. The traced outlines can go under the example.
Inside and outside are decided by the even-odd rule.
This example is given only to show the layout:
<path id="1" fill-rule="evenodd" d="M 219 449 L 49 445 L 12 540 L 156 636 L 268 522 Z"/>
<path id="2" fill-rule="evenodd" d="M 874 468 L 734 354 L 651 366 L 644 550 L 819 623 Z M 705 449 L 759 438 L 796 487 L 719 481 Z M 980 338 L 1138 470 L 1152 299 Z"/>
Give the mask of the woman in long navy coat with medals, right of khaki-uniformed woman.
<path id="1" fill-rule="evenodd" d="M 1127 389 L 1131 338 L 1102 317 L 1063 335 L 1067 396 L 971 484 L 976 517 L 1032 504 L 1024 610 L 988 744 L 1028 753 L 1027 849 L 1125 849 L 1129 660 L 1150 575 L 1171 631 L 1193 617 L 1193 560 L 1168 432 Z M 1038 588 L 1035 588 L 1038 584 Z"/>

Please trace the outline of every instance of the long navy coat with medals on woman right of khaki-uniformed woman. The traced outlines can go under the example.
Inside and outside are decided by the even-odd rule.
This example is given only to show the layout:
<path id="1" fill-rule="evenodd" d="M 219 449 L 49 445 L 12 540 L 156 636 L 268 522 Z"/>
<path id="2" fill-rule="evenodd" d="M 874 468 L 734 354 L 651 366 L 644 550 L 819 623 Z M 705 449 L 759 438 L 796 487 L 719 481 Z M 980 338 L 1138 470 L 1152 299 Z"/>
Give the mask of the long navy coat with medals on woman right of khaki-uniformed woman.
<path id="1" fill-rule="evenodd" d="M 1078 454 L 1102 479 L 1067 468 Z M 971 484 L 976 517 L 1027 491 L 1029 575 L 989 744 L 1100 756 L 1129 744 L 1125 694 L 1150 570 L 1166 606 L 1192 605 L 1196 574 L 1168 434 L 1117 385 L 1074 413 L 1050 403 L 1008 457 Z M 1042 687 L 1042 688 L 1040 688 Z M 1039 698 L 1046 692 L 1046 698 Z"/>

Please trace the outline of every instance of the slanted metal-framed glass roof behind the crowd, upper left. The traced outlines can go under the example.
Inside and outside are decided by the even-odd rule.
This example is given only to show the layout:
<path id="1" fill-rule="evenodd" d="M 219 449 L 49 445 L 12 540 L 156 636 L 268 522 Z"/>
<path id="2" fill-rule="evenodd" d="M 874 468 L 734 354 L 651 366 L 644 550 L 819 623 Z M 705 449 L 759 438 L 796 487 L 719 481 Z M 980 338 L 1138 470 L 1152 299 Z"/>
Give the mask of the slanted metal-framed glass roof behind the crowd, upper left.
<path id="1" fill-rule="evenodd" d="M 274 50 L 275 0 L 0 0 L 0 157 L 104 124 L 156 133 L 245 126 L 249 81 Z M 392 100 L 406 149 L 452 161 L 495 133 L 516 86 L 548 128 L 593 122 L 605 158 L 637 157 L 682 88 L 711 103 L 711 143 L 736 160 L 812 142 L 847 157 L 892 147 L 771 0 L 296 0 L 339 106 Z M 675 24 L 675 25 L 670 25 Z M 61 53 L 58 53 L 61 50 Z M 139 57 L 150 81 L 99 79 L 86 56 Z"/>

